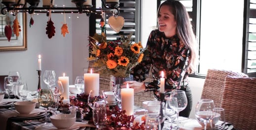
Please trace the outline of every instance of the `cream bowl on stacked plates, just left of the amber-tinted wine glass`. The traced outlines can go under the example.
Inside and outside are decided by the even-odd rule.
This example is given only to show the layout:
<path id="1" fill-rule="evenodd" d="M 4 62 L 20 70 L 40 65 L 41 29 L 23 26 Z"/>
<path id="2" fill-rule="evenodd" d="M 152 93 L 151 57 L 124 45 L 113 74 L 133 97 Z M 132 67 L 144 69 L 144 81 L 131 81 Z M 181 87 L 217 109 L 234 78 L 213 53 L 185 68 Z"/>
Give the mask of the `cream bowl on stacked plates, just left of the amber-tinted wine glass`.
<path id="1" fill-rule="evenodd" d="M 18 101 L 14 103 L 15 110 L 20 114 L 29 114 L 36 107 L 36 102 L 34 101 Z"/>

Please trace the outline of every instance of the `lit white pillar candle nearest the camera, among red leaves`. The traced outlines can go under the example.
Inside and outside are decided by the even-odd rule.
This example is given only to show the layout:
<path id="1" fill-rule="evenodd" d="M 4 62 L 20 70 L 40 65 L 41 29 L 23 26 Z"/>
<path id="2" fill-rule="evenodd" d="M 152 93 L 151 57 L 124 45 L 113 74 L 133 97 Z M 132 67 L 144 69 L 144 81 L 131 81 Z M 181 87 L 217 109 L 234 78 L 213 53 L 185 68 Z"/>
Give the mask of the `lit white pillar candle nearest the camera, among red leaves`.
<path id="1" fill-rule="evenodd" d="M 122 100 L 122 111 L 126 110 L 127 115 L 133 115 L 134 109 L 134 90 L 129 88 L 127 84 L 127 88 L 121 89 L 121 100 Z"/>

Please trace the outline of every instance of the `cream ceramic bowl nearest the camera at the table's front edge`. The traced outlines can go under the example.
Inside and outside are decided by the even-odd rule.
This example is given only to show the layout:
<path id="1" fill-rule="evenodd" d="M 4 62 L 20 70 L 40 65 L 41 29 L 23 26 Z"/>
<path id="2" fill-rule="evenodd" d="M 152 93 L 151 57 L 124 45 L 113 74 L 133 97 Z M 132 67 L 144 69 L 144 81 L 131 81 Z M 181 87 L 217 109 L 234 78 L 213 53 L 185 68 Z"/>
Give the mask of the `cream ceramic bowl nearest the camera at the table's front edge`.
<path id="1" fill-rule="evenodd" d="M 75 114 L 56 114 L 50 116 L 51 123 L 57 129 L 70 128 L 76 122 Z"/>

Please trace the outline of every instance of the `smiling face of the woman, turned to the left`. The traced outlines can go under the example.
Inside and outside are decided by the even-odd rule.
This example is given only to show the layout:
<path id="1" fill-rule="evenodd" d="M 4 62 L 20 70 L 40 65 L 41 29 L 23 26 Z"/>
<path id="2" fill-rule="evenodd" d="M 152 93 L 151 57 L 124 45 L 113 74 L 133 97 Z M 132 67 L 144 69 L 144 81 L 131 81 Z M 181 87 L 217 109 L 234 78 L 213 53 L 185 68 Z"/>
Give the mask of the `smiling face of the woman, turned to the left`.
<path id="1" fill-rule="evenodd" d="M 161 6 L 158 13 L 158 30 L 165 32 L 167 37 L 171 37 L 176 33 L 176 20 L 174 15 L 171 13 L 169 6 Z"/>

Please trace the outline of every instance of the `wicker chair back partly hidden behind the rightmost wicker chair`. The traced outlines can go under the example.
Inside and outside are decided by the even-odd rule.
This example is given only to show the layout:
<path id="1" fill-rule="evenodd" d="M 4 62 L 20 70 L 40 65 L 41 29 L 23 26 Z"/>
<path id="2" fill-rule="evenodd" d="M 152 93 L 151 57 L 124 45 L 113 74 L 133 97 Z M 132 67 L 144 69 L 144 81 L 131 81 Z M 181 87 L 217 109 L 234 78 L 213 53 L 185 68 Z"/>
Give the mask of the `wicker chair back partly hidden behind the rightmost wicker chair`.
<path id="1" fill-rule="evenodd" d="M 221 107 L 222 92 L 226 76 L 248 77 L 241 72 L 208 69 L 201 98 L 213 99 L 215 107 Z"/>

